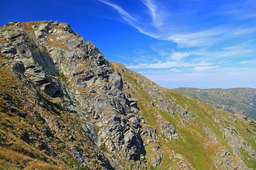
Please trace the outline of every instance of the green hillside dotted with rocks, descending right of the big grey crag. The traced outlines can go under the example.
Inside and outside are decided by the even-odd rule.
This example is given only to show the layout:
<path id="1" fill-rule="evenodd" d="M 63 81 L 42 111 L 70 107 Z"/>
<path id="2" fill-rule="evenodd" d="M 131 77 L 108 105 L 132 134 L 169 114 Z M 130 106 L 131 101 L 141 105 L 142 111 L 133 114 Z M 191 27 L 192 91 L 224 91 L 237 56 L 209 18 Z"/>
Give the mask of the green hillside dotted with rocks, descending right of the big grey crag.
<path id="1" fill-rule="evenodd" d="M 126 69 L 122 64 L 111 64 L 122 74 L 126 89 L 140 97 L 138 106 L 142 115 L 149 125 L 156 127 L 159 141 L 164 148 L 171 148 L 181 154 L 196 169 L 228 168 L 230 162 L 227 165 L 222 164 L 222 157 L 219 157 L 224 148 L 227 148 L 231 155 L 233 153 L 244 160 L 249 167 L 256 167 L 254 120 L 216 110 L 210 104 L 161 88 L 146 77 Z M 171 142 L 163 138 L 158 117 L 163 117 L 173 124 L 178 138 Z M 247 147 L 251 153 L 245 151 Z M 166 155 L 170 154 L 168 150 L 164 152 L 167 152 Z M 172 159 L 167 162 L 172 162 Z M 160 167 L 166 168 L 162 165 Z"/>

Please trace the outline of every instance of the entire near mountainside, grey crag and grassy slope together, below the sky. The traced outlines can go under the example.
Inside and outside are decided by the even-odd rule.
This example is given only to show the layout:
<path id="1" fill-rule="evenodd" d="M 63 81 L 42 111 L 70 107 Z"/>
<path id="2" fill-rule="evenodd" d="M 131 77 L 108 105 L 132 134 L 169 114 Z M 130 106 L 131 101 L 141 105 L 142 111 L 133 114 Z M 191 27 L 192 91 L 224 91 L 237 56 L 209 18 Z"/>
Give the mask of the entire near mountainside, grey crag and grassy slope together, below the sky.
<path id="1" fill-rule="evenodd" d="M 11 22 L 1 27 L 0 40 L 2 167 L 255 166 L 251 119 L 109 63 L 66 23 Z M 236 127 L 250 123 L 245 138 Z M 7 158 L 8 150 L 20 157 Z"/>

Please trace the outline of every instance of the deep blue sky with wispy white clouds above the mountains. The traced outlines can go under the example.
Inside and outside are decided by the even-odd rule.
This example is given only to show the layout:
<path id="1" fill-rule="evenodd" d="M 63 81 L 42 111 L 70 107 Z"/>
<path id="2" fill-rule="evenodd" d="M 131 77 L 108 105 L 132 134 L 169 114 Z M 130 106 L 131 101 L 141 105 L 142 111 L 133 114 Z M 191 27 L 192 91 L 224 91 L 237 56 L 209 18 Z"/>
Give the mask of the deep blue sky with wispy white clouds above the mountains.
<path id="1" fill-rule="evenodd" d="M 163 87 L 256 88 L 256 0 L 0 2 L 0 25 L 39 20 Z"/>

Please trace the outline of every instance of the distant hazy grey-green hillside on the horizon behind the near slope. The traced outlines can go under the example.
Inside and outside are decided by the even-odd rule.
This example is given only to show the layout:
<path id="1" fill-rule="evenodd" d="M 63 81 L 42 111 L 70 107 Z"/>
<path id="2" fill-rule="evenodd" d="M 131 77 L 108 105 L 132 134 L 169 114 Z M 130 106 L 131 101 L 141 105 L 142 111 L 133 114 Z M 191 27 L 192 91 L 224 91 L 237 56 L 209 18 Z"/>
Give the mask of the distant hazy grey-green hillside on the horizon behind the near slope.
<path id="1" fill-rule="evenodd" d="M 182 95 L 193 97 L 204 103 L 211 103 L 218 109 L 243 114 L 256 120 L 256 89 L 173 89 Z"/>

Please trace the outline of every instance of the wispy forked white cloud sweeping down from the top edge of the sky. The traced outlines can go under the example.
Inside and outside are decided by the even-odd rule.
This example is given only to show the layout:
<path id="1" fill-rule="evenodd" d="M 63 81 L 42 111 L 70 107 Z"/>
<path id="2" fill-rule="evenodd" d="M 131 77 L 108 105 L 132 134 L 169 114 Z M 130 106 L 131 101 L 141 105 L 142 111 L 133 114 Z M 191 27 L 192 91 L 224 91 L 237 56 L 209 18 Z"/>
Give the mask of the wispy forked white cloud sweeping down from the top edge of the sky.
<path id="1" fill-rule="evenodd" d="M 109 1 L 105 0 L 99 0 L 100 2 L 103 2 L 109 6 L 112 6 L 116 11 L 118 11 L 121 16 L 128 21 L 129 24 L 131 24 L 133 27 L 137 28 L 139 32 L 146 34 L 152 38 L 160 39 L 160 40 L 170 40 L 174 43 L 177 43 L 180 48 L 184 47 L 195 47 L 195 46 L 212 46 L 215 43 L 219 43 L 228 37 L 239 35 L 239 34 L 248 34 L 256 32 L 256 29 L 252 27 L 252 25 L 245 25 L 241 26 L 241 29 L 239 27 L 237 29 L 234 29 L 233 27 L 230 27 L 229 25 L 225 25 L 223 27 L 222 25 L 214 25 L 213 27 L 201 27 L 200 23 L 197 25 L 194 23 L 189 23 L 188 20 L 184 20 L 186 17 L 193 17 L 195 15 L 195 11 L 189 13 L 187 11 L 182 11 L 182 13 L 168 11 L 167 9 L 161 7 L 160 5 L 157 5 L 156 1 L 153 0 L 141 0 L 141 2 L 147 6 L 149 10 L 149 15 L 153 21 L 152 25 L 147 25 L 145 22 L 138 22 L 136 19 L 134 19 L 128 12 L 126 12 L 123 8 L 118 6 L 117 4 L 111 3 Z M 202 1 L 203 3 L 203 1 Z M 206 3 L 206 2 L 204 2 Z M 248 3 L 251 4 L 251 3 Z M 171 5 L 171 4 L 170 4 Z M 181 10 L 185 10 L 186 7 L 189 7 L 186 5 L 186 3 L 183 3 L 184 7 L 180 7 Z M 207 4 L 206 4 L 207 5 Z M 241 6 L 242 4 L 240 4 Z M 162 5 L 163 6 L 163 5 Z M 219 13 L 216 13 L 215 15 L 223 16 L 224 14 L 227 15 L 228 18 L 230 14 L 236 14 L 239 15 L 240 13 L 246 13 L 250 14 L 251 16 L 256 15 L 256 12 L 253 11 L 254 8 L 250 12 L 245 12 L 246 8 L 244 9 L 244 12 L 241 11 L 239 8 L 230 9 L 226 8 L 225 4 L 222 5 L 223 9 L 218 9 Z M 224 10 L 225 7 L 225 10 Z M 212 7 L 208 7 L 212 8 Z M 198 9 L 199 10 L 199 9 Z M 192 11 L 192 10 L 191 10 Z M 163 17 L 164 16 L 167 17 Z M 175 18 L 177 17 L 177 18 Z M 180 19 L 183 19 L 181 23 L 179 21 Z M 141 19 L 142 20 L 142 19 Z M 134 22 L 136 21 L 136 22 Z M 142 20 L 143 21 L 143 20 Z M 188 22 L 188 24 L 186 24 Z M 196 20 L 196 22 L 205 22 L 201 20 Z M 210 20 L 208 22 L 211 22 Z M 202 23 L 203 25 L 203 23 Z"/>

